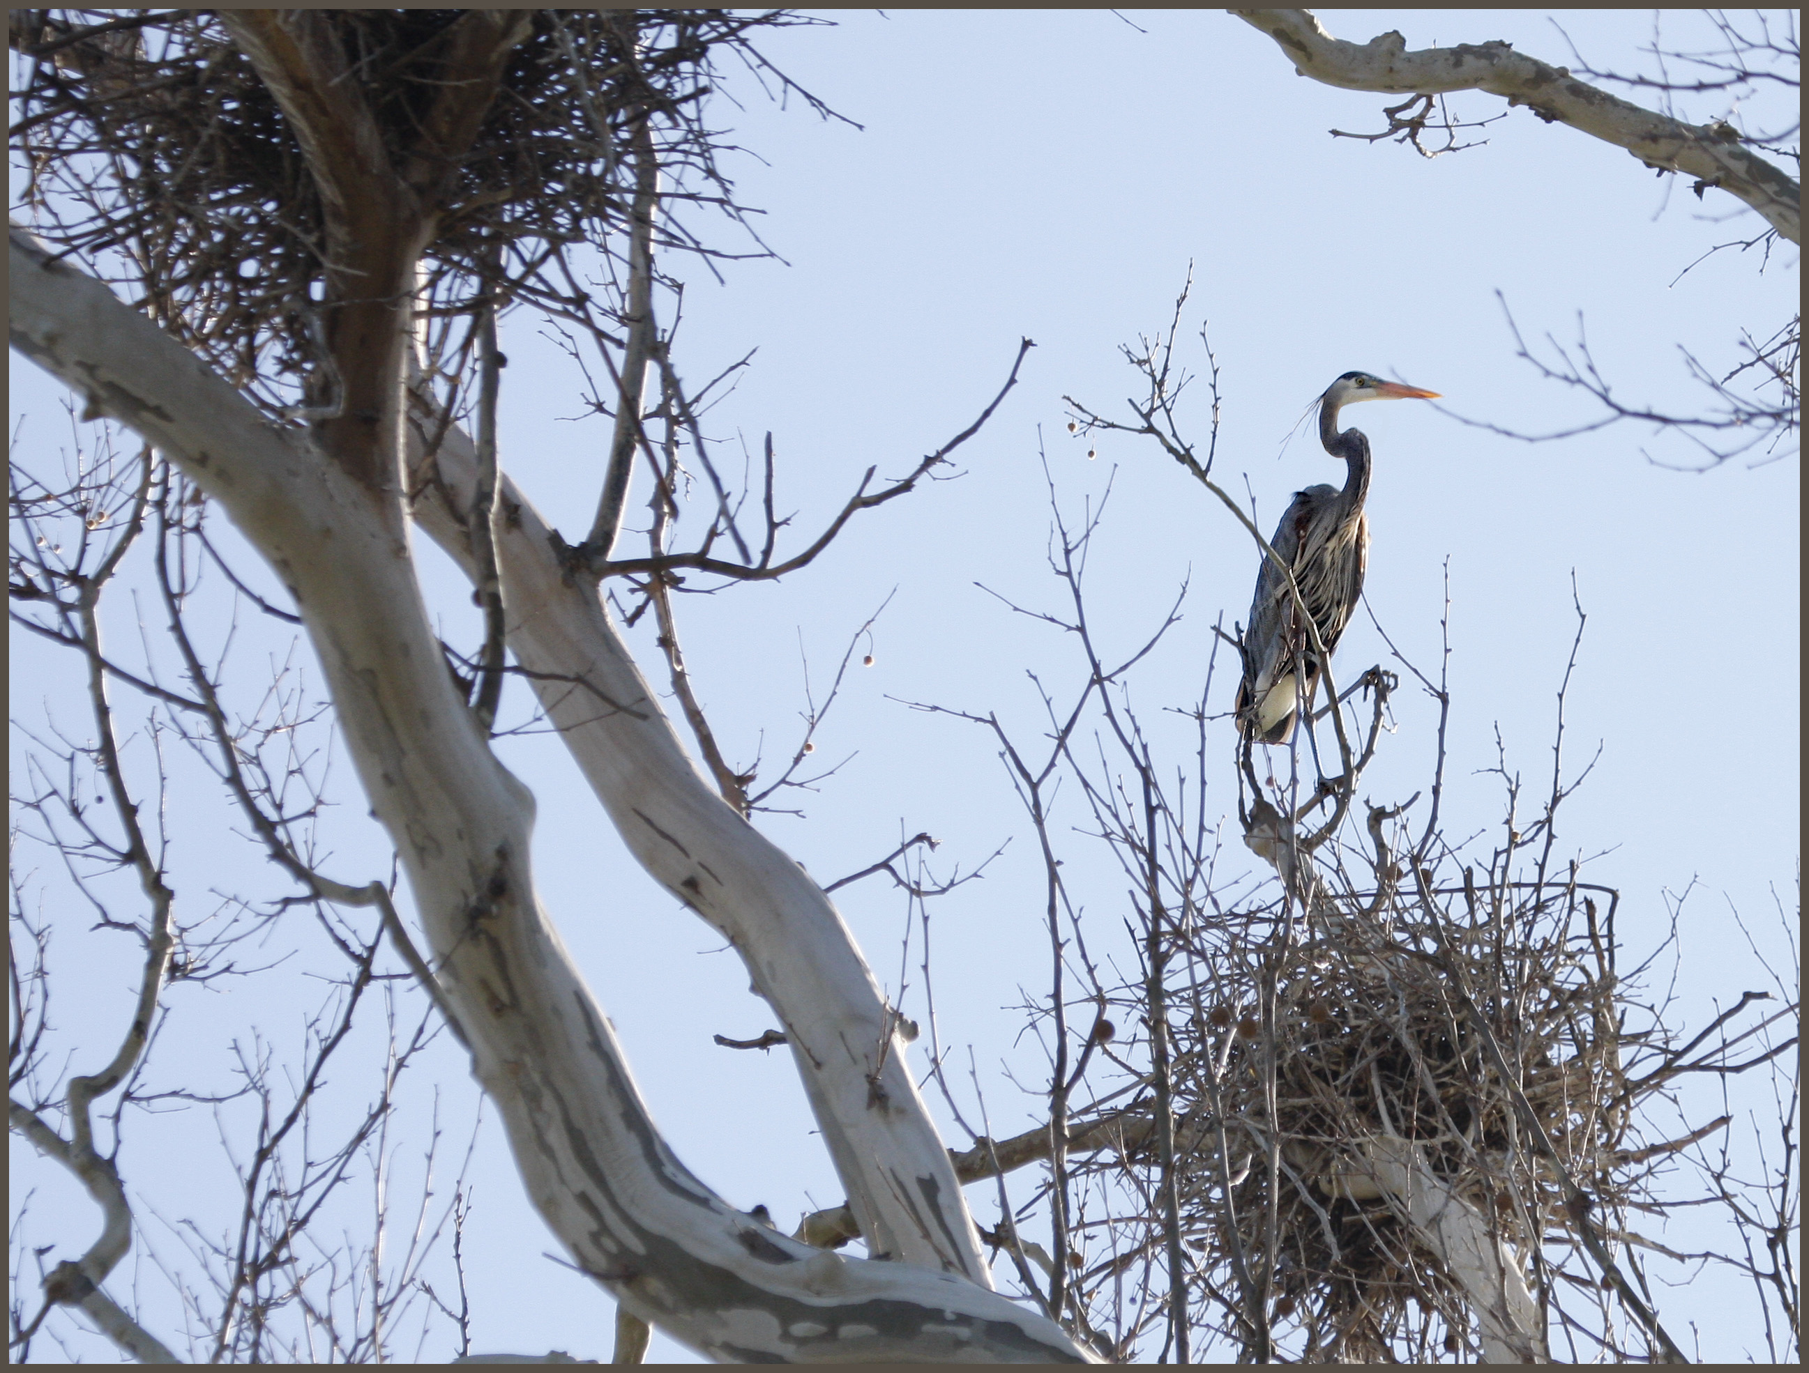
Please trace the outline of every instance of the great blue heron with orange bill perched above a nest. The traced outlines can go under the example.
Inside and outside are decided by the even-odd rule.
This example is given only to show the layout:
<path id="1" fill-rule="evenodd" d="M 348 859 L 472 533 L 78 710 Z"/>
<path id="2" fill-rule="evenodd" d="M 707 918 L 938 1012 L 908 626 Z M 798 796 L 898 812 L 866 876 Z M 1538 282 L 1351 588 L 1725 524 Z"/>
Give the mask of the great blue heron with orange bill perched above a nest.
<path id="1" fill-rule="evenodd" d="M 1431 400 L 1436 391 L 1380 382 L 1369 373 L 1344 373 L 1319 398 L 1319 441 L 1350 465 L 1344 490 L 1308 487 L 1295 492 L 1270 544 L 1293 572 L 1301 601 L 1319 630 L 1326 653 L 1337 648 L 1362 595 L 1369 561 L 1369 521 L 1362 501 L 1369 494 L 1369 440 L 1359 429 L 1339 432 L 1339 411 L 1359 400 Z M 1293 736 L 1299 705 L 1312 705 L 1321 660 L 1313 637 L 1301 622 L 1288 579 L 1263 555 L 1250 601 L 1250 628 L 1243 640 L 1245 677 L 1237 687 L 1237 729 L 1263 743 Z M 1306 686 L 1302 689 L 1301 678 Z"/>

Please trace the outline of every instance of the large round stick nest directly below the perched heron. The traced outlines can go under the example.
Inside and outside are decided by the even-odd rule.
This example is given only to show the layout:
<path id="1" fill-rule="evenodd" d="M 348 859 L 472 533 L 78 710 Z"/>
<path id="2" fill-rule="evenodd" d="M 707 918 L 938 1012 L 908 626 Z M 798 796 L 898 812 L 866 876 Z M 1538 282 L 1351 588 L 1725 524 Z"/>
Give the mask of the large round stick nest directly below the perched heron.
<path id="1" fill-rule="evenodd" d="M 1308 1360 L 1388 1360 L 1404 1346 L 1436 1357 L 1473 1330 L 1462 1290 L 1364 1167 L 1368 1141 L 1413 1141 L 1534 1264 L 1536 1290 L 1552 1286 L 1547 1245 L 1574 1226 L 1511 1091 L 1599 1207 L 1617 1212 L 1634 1185 L 1623 1143 L 1641 1087 L 1623 1071 L 1612 933 L 1596 901 L 1565 883 L 1427 897 L 1436 928 L 1425 903 L 1348 892 L 1317 897 L 1308 928 L 1295 921 L 1292 935 L 1277 903 L 1203 923 L 1178 950 L 1185 959 L 1170 973 L 1187 971 L 1170 975 L 1169 997 L 1181 1234 L 1205 1277 L 1196 1292 L 1216 1288 L 1196 1321 L 1237 1344 L 1250 1342 L 1236 1313 L 1241 1264 L 1268 1274 L 1264 1319 L 1277 1337 L 1299 1331 Z M 1377 914 L 1388 906 L 1393 917 Z M 1511 1085 L 1453 993 L 1453 962 L 1509 1056 Z M 1132 997 L 1141 1002 L 1141 988 Z M 1149 1100 L 1145 1089 L 1145 1109 Z M 1147 1178 L 1158 1167 L 1151 1131 L 1122 1147 L 1116 1160 L 1076 1160 L 1075 1172 Z M 1141 1237 L 1118 1243 L 1084 1288 L 1160 1252 L 1156 1208 L 1145 1216 Z M 1588 1283 L 1583 1272 L 1577 1263 L 1559 1275 Z"/>

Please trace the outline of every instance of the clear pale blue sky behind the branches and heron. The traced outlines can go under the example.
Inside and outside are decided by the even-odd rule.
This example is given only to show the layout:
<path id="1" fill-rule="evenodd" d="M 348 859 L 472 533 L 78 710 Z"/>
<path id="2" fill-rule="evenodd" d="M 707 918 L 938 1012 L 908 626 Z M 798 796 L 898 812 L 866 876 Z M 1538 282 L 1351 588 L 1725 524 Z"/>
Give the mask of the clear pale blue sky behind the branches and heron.
<path id="1" fill-rule="evenodd" d="M 1391 143 L 1331 139 L 1331 127 L 1378 127 L 1389 101 L 1297 78 L 1272 40 L 1223 13 L 1127 14 L 1141 33 L 1091 11 L 888 11 L 765 38 L 781 69 L 865 132 L 821 123 L 796 101 L 778 110 L 743 72 L 725 71 L 722 90 L 743 109 L 718 98 L 713 119 L 758 154 L 731 156 L 725 168 L 742 203 L 763 212 L 760 233 L 787 264 L 731 262 L 725 288 L 696 264 L 668 264 L 689 284 L 675 346 L 686 378 L 700 382 L 760 349 L 707 431 L 729 440 L 718 450 L 729 467 L 740 461 L 736 431 L 756 454 L 760 436 L 774 432 L 780 505 L 798 510 L 800 534 L 868 465 L 904 472 L 962 429 L 999 389 L 1018 338 L 1037 340 L 1018 389 L 962 450 L 961 481 L 865 516 L 781 586 L 680 606 L 687 657 L 731 762 L 749 760 L 763 733 L 771 763 L 796 738 L 800 648 L 821 691 L 848 635 L 895 590 L 874 631 L 876 666 L 850 675 L 818 734 L 818 758 L 854 760 L 803 796 L 803 819 L 763 827 L 825 881 L 883 856 L 901 827 L 930 830 L 944 841 L 939 863 L 964 866 L 1015 836 L 986 881 L 935 914 L 941 1033 L 975 1046 L 995 1134 L 1022 1129 L 1035 1111 L 1002 1065 L 1029 1082 L 1040 1073 L 1033 1046 L 1017 1044 L 1020 1017 L 1009 1009 L 1018 988 L 1035 995 L 1047 980 L 1033 845 L 990 742 L 888 698 L 995 709 L 1029 734 L 1037 707 L 1024 669 L 1064 691 L 1075 680 L 1069 646 L 975 586 L 1020 604 L 1056 602 L 1038 441 L 1067 510 L 1114 481 L 1091 566 L 1093 611 L 1109 642 L 1147 637 L 1190 577 L 1185 620 L 1136 693 L 1147 718 L 1198 696 L 1210 626 L 1246 613 L 1254 550 L 1154 447 L 1102 438 L 1089 461 L 1089 445 L 1066 432 L 1062 405 L 1073 394 L 1122 414 L 1134 378 L 1118 346 L 1167 324 L 1189 262 L 1181 356 L 1203 365 L 1198 327 L 1210 318 L 1225 398 L 1216 476 L 1237 494 L 1248 481 L 1264 530 L 1290 492 L 1342 478 L 1312 434 L 1286 450 L 1283 440 L 1351 367 L 1440 391 L 1440 405 L 1458 414 L 1530 431 L 1592 414 L 1514 358 L 1498 293 L 1529 340 L 1552 333 L 1570 344 L 1581 317 L 1605 374 L 1630 400 L 1681 411 L 1699 409 L 1700 393 L 1679 346 L 1726 371 L 1740 331 L 1769 335 L 1798 293 L 1791 244 L 1764 277 L 1751 255 L 1729 251 L 1673 282 L 1713 244 L 1753 237 L 1757 219 L 1715 223 L 1740 206 L 1715 194 L 1699 204 L 1682 185 L 1576 130 L 1516 110 L 1482 132 L 1487 147 L 1436 161 Z M 1563 22 L 1597 65 L 1635 65 L 1634 49 L 1650 38 L 1644 14 L 1567 13 Z M 1359 42 L 1398 27 L 1409 47 L 1507 38 L 1570 62 L 1550 22 L 1527 11 L 1346 11 L 1328 14 L 1328 25 Z M 1476 118 L 1500 103 L 1465 96 L 1453 109 Z M 1706 119 L 1722 109 L 1684 112 Z M 534 340 L 532 320 L 505 322 L 505 465 L 570 534 L 588 523 L 604 431 L 561 418 L 581 412 L 575 380 Z M 54 441 L 63 431 L 49 423 L 49 391 L 29 367 L 14 364 L 13 374 L 27 434 Z M 1196 387 L 1183 420 L 1205 440 L 1208 403 Z M 1653 445 L 1635 427 L 1523 445 L 1431 405 L 1369 405 L 1355 420 L 1377 450 L 1368 601 L 1427 673 L 1449 564 L 1449 832 L 1500 819 L 1500 780 L 1480 774 L 1496 765 L 1496 731 L 1527 794 L 1549 785 L 1574 579 L 1588 630 L 1567 754 L 1572 769 L 1597 745 L 1601 758 L 1565 807 L 1559 852 L 1592 859 L 1588 877 L 1623 890 L 1621 932 L 1639 952 L 1666 928 L 1666 892 L 1699 885 L 1679 924 L 1679 1009 L 1691 1024 L 1713 1013 L 1713 1000 L 1762 986 L 1728 912 L 1766 926 L 1773 890 L 1789 908 L 1796 899 L 1796 458 L 1693 476 L 1650 463 L 1643 450 L 1670 461 L 1690 452 Z M 631 521 L 642 497 L 637 487 Z M 434 595 L 449 637 L 474 637 L 465 592 L 441 579 Z M 640 635 L 637 648 L 658 680 L 651 639 Z M 1359 615 L 1339 649 L 1340 678 L 1384 655 Z M 14 660 L 16 718 L 54 691 L 34 675 L 40 660 L 29 648 Z M 1216 709 L 1228 709 L 1232 686 L 1225 675 Z M 1397 720 L 1364 785 L 1377 803 L 1422 787 L 1431 760 L 1431 704 L 1404 687 Z M 767 1203 L 785 1228 L 800 1210 L 839 1201 L 785 1055 L 711 1044 L 713 1033 L 751 1038 L 771 1024 L 740 964 L 631 868 L 554 745 L 512 743 L 507 756 L 539 796 L 546 904 L 675 1149 L 738 1205 Z M 346 800 L 338 854 L 347 870 L 336 876 L 365 881 L 374 870 L 353 868 L 382 863 L 382 850 L 358 832 L 362 805 Z M 1236 825 L 1234 792 L 1221 785 L 1217 803 Z M 1078 821 L 1078 810 L 1067 818 Z M 1067 843 L 1085 870 L 1085 841 L 1069 834 Z M 1241 847 L 1232 847 L 1236 865 Z M 1085 899 L 1100 928 L 1116 928 L 1118 892 L 1103 870 Z M 838 903 L 895 988 L 903 899 L 870 879 Z M 904 1009 L 921 1013 L 915 970 L 910 980 Z M 197 1029 L 197 1042 L 246 1033 L 246 1008 L 232 997 L 204 1015 L 210 1029 Z M 472 1094 L 454 1055 L 438 1062 L 441 1120 L 454 1122 L 454 1138 Z M 966 1051 L 953 1062 L 964 1078 Z M 487 1131 L 479 1150 L 478 1245 L 469 1246 L 481 1255 L 479 1348 L 608 1359 L 608 1301 L 537 1257 L 554 1245 L 521 1201 L 499 1132 Z M 16 1194 L 18 1161 L 13 1176 Z M 990 1225 L 991 1194 L 975 1199 Z M 71 1214 L 85 1216 L 83 1205 L 72 1201 Z M 85 1225 L 72 1221 L 71 1234 Z M 1666 1313 L 1672 1302 L 1673 1330 L 1704 1310 L 1691 1293 L 1661 1293 Z M 1704 1353 L 1731 1351 L 1710 1328 L 1702 1339 Z M 651 1357 L 682 1351 L 657 1337 Z"/>

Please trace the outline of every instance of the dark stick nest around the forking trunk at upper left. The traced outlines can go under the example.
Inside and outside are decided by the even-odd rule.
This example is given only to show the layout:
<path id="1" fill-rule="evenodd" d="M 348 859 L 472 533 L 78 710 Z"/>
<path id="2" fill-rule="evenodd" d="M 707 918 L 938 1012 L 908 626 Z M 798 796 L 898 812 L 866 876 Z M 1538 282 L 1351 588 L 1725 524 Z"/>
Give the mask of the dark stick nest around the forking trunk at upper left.
<path id="1" fill-rule="evenodd" d="M 461 14 L 333 11 L 349 94 L 367 103 L 396 165 L 440 90 L 440 40 Z M 700 114 L 713 58 L 733 51 L 789 87 L 749 33 L 798 22 L 783 13 L 535 11 L 438 215 L 423 262 L 429 309 L 470 311 L 490 286 L 570 304 L 581 286 L 548 266 L 575 244 L 615 257 L 635 190 L 630 139 L 642 125 L 668 206 L 689 201 L 740 217 Z M 11 11 L 9 38 L 29 58 L 14 78 L 11 136 L 33 228 L 134 289 L 137 304 L 262 403 L 293 400 L 320 356 L 309 308 L 326 270 L 320 195 L 275 98 L 219 16 Z M 711 251 L 682 219 L 664 213 L 658 224 L 669 246 Z"/>

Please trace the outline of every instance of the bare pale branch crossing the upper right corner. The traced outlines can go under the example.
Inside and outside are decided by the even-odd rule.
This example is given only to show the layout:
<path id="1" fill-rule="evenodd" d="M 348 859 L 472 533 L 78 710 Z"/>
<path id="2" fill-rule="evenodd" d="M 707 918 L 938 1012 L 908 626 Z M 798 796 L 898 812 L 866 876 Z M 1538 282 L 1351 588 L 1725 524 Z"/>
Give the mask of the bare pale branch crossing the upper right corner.
<path id="1" fill-rule="evenodd" d="M 1549 123 L 1567 123 L 1626 148 L 1648 166 L 1697 177 L 1699 190 L 1717 186 L 1737 195 L 1785 239 L 1802 242 L 1802 188 L 1742 147 L 1729 125 L 1672 119 L 1579 81 L 1565 67 L 1516 52 L 1505 42 L 1409 52 L 1407 40 L 1398 33 L 1384 33 L 1368 43 L 1333 38 L 1306 9 L 1230 13 L 1274 38 L 1301 76 L 1344 90 L 1415 96 L 1487 90 L 1505 96 L 1509 105 L 1525 105 Z"/>

